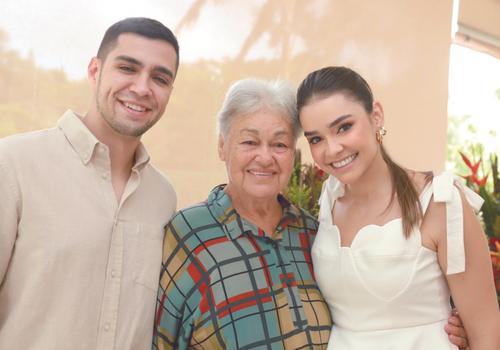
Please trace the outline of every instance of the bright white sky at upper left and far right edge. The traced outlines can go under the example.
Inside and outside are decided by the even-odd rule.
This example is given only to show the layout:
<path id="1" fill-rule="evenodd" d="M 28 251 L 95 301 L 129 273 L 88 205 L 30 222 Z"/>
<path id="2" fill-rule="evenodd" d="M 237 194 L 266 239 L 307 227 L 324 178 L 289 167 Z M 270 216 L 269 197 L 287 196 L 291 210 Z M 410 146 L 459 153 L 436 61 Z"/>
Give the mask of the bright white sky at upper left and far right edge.
<path id="1" fill-rule="evenodd" d="M 110 23 L 130 16 L 146 16 L 175 29 L 194 1 L 1 0 L 0 30 L 7 32 L 10 48 L 23 56 L 32 53 L 37 65 L 63 69 L 70 78 L 82 79 L 89 58 L 95 54 Z M 218 0 L 208 1 L 196 25 L 176 33 L 183 62 L 236 55 L 241 38 L 250 32 L 252 26 L 249 14 L 256 11 L 263 0 L 226 1 L 224 13 L 231 13 L 231 16 L 221 16 L 218 11 L 220 3 Z M 214 18 L 217 25 L 213 25 Z M 220 33 L 220 28 L 231 30 Z M 249 57 L 255 55 L 250 52 Z M 498 137 L 495 140 L 483 135 L 496 130 L 500 136 L 500 100 L 495 95 L 499 88 L 499 59 L 452 45 L 449 113 L 473 115 L 477 137 L 486 143 L 487 149 L 496 149 L 497 152 L 500 152 Z"/>

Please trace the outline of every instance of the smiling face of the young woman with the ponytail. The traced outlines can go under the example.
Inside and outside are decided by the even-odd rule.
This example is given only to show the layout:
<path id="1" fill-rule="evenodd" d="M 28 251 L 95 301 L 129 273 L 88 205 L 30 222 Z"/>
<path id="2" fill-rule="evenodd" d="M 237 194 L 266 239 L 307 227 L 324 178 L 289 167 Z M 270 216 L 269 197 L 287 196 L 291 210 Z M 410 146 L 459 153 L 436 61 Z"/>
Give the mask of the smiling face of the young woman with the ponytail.
<path id="1" fill-rule="evenodd" d="M 345 184 L 359 180 L 374 161 L 382 161 L 375 138 L 383 126 L 378 102 L 367 113 L 359 101 L 334 93 L 302 107 L 300 122 L 316 164 Z"/>

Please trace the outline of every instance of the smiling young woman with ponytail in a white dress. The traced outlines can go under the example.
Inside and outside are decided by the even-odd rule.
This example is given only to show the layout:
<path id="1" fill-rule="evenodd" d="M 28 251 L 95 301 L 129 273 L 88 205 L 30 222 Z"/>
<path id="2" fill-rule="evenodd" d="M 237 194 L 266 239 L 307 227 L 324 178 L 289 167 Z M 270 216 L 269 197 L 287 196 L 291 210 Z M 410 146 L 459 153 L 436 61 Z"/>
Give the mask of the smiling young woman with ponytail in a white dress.
<path id="1" fill-rule="evenodd" d="M 312 248 L 334 321 L 329 348 L 457 349 L 443 332 L 451 291 L 471 348 L 500 349 L 491 262 L 473 212 L 481 198 L 451 174 L 394 163 L 382 145 L 382 105 L 351 69 L 312 72 L 297 105 L 314 161 L 330 175 Z"/>

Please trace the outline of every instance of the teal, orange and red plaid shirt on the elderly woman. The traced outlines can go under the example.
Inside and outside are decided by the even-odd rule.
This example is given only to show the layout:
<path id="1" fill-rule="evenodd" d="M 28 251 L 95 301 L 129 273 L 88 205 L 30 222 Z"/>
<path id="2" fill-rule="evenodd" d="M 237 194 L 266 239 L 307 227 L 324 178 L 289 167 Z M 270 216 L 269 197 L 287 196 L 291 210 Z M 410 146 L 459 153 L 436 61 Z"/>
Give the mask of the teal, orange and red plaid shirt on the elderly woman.
<path id="1" fill-rule="evenodd" d="M 153 349 L 326 349 L 332 321 L 310 255 L 317 221 L 279 196 L 270 238 L 223 188 L 166 226 Z"/>

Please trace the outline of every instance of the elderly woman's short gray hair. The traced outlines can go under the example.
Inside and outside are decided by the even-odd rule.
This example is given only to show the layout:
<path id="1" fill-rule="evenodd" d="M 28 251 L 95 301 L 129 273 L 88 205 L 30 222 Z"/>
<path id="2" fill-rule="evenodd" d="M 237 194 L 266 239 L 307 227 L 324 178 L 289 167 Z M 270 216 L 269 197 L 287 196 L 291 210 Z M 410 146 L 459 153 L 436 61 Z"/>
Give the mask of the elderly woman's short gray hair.
<path id="1" fill-rule="evenodd" d="M 284 80 L 243 79 L 233 83 L 217 114 L 217 131 L 226 137 L 235 117 L 262 110 L 279 112 L 290 122 L 295 140 L 300 134 L 295 90 Z"/>

